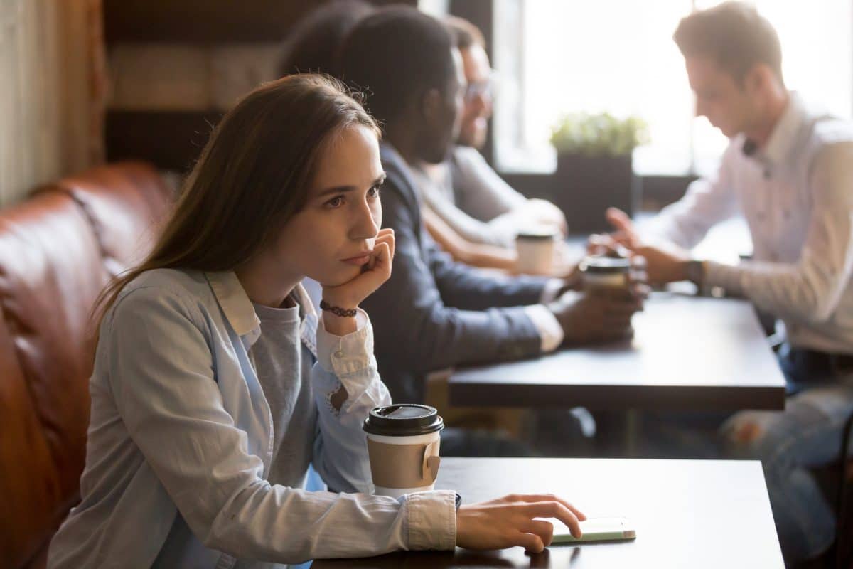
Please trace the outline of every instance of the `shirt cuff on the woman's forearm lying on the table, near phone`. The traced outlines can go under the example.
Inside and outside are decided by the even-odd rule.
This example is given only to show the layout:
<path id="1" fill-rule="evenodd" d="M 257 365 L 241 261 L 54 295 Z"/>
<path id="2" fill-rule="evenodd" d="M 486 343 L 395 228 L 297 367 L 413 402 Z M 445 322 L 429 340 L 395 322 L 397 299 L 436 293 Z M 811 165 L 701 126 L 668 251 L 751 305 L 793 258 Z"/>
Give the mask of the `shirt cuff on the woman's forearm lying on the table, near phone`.
<path id="1" fill-rule="evenodd" d="M 456 492 L 416 492 L 406 496 L 409 549 L 456 548 Z"/>

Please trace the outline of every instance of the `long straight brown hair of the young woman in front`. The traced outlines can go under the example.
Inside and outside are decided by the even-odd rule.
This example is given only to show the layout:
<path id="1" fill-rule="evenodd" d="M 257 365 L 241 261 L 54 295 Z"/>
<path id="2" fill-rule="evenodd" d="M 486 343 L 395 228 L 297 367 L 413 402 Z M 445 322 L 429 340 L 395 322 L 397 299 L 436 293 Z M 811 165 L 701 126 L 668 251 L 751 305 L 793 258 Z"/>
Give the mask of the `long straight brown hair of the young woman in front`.
<path id="1" fill-rule="evenodd" d="M 328 142 L 355 125 L 379 136 L 374 119 L 328 76 L 290 75 L 243 97 L 213 130 L 152 253 L 96 300 L 96 322 L 147 270 L 234 270 L 252 258 L 305 206 Z"/>

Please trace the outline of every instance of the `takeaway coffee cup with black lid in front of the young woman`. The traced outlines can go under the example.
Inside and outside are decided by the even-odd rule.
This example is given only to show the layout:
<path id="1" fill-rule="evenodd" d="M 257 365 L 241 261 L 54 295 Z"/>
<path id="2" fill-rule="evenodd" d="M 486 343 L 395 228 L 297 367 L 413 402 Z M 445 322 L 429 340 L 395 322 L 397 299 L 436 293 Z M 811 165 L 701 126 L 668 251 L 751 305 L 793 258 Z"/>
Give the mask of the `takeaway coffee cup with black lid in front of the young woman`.
<path id="1" fill-rule="evenodd" d="M 400 497 L 432 490 L 444 420 L 429 405 L 376 407 L 364 420 L 376 494 Z"/>

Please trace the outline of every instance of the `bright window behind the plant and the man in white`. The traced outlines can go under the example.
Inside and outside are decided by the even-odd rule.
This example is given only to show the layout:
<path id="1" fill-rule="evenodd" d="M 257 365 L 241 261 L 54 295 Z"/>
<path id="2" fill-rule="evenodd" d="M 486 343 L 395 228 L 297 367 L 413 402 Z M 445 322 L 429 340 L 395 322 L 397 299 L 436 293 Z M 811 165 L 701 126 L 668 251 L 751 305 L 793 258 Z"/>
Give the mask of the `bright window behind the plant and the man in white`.
<path id="1" fill-rule="evenodd" d="M 652 142 L 643 174 L 705 173 L 726 139 L 693 117 L 672 41 L 678 21 L 714 0 L 495 0 L 496 161 L 502 171 L 553 171 L 550 127 L 568 112 L 636 114 Z M 853 0 L 757 0 L 779 32 L 786 84 L 831 112 L 853 107 Z"/>

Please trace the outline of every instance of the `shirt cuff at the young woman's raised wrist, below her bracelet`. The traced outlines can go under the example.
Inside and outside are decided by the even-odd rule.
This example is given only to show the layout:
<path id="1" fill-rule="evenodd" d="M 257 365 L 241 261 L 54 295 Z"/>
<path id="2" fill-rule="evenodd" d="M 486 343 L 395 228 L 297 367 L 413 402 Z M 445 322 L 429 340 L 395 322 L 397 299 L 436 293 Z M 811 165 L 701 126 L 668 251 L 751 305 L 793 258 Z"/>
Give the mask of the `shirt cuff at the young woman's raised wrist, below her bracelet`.
<path id="1" fill-rule="evenodd" d="M 345 336 L 327 332 L 322 317 L 318 320 L 317 363 L 322 369 L 341 377 L 363 371 L 372 363 L 373 326 L 367 312 L 358 309 L 356 331 Z"/>

